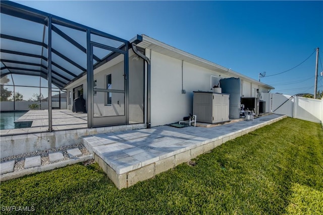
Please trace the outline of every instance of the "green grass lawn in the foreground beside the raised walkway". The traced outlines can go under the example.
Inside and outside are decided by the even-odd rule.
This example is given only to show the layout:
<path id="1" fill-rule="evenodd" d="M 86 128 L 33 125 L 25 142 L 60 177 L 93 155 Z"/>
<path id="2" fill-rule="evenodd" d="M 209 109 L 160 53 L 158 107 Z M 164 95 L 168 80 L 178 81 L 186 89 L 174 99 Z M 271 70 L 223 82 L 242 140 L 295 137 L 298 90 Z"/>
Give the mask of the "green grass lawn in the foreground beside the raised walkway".
<path id="1" fill-rule="evenodd" d="M 118 190 L 97 164 L 1 183 L 1 209 L 41 214 L 323 214 L 323 129 L 286 118 Z M 4 212 L 2 211 L 2 214 Z"/>

